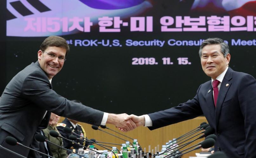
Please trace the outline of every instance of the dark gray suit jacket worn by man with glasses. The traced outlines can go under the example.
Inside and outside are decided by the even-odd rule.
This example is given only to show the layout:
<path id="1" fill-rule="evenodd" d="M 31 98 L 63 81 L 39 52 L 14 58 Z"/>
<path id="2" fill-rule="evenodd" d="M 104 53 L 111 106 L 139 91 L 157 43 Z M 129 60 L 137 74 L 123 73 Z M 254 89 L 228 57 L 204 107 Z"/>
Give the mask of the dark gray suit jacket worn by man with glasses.
<path id="1" fill-rule="evenodd" d="M 43 120 L 46 110 L 48 114 Z M 23 145 L 30 146 L 42 120 L 41 125 L 47 127 L 49 112 L 98 126 L 104 114 L 58 95 L 52 90 L 47 75 L 36 61 L 17 73 L 0 97 L 0 144 L 27 156 L 29 149 L 17 145 L 10 146 L 4 139 L 12 136 Z M 1 149 L 0 153 L 5 158 L 16 157 Z"/>

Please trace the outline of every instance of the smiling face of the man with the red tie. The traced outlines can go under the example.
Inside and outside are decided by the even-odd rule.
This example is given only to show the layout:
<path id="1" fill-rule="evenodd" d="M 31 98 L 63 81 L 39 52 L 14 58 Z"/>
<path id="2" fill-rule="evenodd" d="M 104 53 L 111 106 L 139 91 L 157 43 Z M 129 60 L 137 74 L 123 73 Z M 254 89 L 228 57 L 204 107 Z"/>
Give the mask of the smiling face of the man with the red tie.
<path id="1" fill-rule="evenodd" d="M 201 65 L 203 71 L 207 76 L 212 79 L 216 79 L 226 67 L 228 67 L 230 61 L 230 54 L 226 57 L 220 51 L 220 44 L 208 44 L 203 47 L 201 55 Z"/>

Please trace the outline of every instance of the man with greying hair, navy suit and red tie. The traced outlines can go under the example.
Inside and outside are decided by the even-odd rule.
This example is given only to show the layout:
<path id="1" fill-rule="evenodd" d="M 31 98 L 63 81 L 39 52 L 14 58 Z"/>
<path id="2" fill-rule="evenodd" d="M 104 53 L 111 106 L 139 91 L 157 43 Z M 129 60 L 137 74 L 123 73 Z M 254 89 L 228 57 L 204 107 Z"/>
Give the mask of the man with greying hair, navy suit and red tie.
<path id="1" fill-rule="evenodd" d="M 255 158 L 256 80 L 228 67 L 229 48 L 220 38 L 205 40 L 199 55 L 203 71 L 212 79 L 199 86 L 192 100 L 164 111 L 133 115 L 133 120 L 154 130 L 204 114 L 217 135 L 215 151 L 224 151 L 230 158 Z"/>

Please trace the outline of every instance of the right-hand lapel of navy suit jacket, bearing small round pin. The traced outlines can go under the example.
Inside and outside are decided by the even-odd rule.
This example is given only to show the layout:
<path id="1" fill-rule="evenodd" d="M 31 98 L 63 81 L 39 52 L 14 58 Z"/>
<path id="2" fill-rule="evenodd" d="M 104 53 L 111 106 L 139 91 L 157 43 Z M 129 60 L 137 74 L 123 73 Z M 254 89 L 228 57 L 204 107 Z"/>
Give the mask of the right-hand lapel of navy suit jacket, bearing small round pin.
<path id="1" fill-rule="evenodd" d="M 218 127 L 218 124 L 219 124 L 220 112 L 221 112 L 223 101 L 226 97 L 229 87 L 232 84 L 232 82 L 230 81 L 232 79 L 232 74 L 233 74 L 233 70 L 229 67 L 220 85 L 220 91 L 219 91 L 218 100 L 217 100 L 216 109 L 215 109 L 216 127 Z"/>

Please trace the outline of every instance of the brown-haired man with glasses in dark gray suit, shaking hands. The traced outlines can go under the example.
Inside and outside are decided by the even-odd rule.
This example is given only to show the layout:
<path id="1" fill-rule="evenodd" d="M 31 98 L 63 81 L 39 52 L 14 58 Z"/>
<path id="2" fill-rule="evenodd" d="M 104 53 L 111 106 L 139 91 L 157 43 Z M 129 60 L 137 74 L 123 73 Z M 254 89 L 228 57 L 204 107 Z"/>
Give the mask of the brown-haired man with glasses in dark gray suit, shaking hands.
<path id="1" fill-rule="evenodd" d="M 104 113 L 71 102 L 52 90 L 51 80 L 62 69 L 68 52 L 69 45 L 64 38 L 46 38 L 37 53 L 38 61 L 17 73 L 5 87 L 0 97 L 0 144 L 3 147 L 28 156 L 29 149 L 10 146 L 5 138 L 12 136 L 30 147 L 36 130 L 47 127 L 51 112 L 96 126 L 110 123 L 125 131 L 136 127 L 133 121 L 126 121 L 127 114 Z M 3 149 L 0 153 L 5 158 L 16 157 Z"/>

